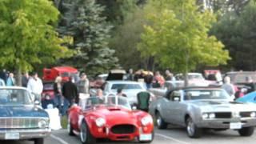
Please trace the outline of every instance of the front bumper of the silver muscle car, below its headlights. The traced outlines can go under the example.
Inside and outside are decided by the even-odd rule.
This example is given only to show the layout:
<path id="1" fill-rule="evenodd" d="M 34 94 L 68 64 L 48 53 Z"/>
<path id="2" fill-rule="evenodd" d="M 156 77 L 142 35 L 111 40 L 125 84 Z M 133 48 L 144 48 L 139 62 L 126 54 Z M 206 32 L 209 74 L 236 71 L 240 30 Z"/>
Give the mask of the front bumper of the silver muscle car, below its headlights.
<path id="1" fill-rule="evenodd" d="M 242 127 L 256 126 L 256 118 L 214 118 L 196 123 L 198 127 L 210 129 L 230 129 L 230 123 L 241 122 Z"/>

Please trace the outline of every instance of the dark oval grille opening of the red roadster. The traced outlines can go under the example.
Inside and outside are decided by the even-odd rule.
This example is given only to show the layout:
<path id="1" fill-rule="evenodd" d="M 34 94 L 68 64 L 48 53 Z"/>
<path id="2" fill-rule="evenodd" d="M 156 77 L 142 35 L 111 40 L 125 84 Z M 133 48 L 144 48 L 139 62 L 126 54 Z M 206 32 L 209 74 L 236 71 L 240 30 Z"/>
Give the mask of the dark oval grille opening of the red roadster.
<path id="1" fill-rule="evenodd" d="M 133 134 L 135 130 L 133 125 L 116 125 L 111 128 L 113 134 Z"/>

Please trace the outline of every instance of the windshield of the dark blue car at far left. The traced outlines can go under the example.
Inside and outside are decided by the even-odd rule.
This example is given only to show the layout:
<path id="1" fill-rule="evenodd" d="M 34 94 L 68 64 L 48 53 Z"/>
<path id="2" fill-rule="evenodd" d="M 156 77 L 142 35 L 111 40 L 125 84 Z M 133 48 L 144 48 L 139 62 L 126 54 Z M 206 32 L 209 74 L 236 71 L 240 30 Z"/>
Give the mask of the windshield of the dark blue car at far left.
<path id="1" fill-rule="evenodd" d="M 22 89 L 0 89 L 0 105 L 18 106 L 33 104 L 31 95 Z"/>

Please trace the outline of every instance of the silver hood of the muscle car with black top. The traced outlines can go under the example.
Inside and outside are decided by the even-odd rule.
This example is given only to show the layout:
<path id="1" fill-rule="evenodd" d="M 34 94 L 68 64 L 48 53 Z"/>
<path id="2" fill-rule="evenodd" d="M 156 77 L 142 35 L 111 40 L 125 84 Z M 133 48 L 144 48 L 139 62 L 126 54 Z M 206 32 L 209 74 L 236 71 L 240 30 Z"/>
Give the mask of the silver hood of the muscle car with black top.
<path id="1" fill-rule="evenodd" d="M 240 102 L 230 102 L 230 101 L 194 101 L 191 102 L 195 106 L 200 107 L 202 112 L 210 112 L 210 111 L 255 111 L 256 105 L 253 104 L 243 104 Z"/>

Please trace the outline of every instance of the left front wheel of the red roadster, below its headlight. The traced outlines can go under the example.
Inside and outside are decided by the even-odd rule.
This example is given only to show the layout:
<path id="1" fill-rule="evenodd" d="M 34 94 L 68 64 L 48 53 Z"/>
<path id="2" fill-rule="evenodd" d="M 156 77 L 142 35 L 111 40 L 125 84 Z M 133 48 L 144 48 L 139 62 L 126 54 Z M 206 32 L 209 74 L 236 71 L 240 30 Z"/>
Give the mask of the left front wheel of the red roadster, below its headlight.
<path id="1" fill-rule="evenodd" d="M 96 139 L 92 134 L 90 134 L 90 130 L 88 126 L 86 125 L 86 122 L 82 122 L 81 128 L 80 128 L 80 140 L 82 144 L 89 144 L 89 143 L 95 143 Z"/>

